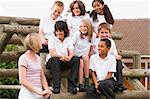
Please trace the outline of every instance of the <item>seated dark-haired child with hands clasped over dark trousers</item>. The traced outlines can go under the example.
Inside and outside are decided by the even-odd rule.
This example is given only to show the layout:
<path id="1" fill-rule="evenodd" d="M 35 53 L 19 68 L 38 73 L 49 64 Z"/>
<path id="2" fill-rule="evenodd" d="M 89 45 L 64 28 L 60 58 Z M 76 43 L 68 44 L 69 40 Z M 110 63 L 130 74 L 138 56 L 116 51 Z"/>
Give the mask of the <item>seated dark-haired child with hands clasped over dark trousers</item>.
<path id="1" fill-rule="evenodd" d="M 69 36 L 67 23 L 58 21 L 55 24 L 55 37 L 48 43 L 49 54 L 47 65 L 53 78 L 53 93 L 60 93 L 61 69 L 71 68 L 68 77 L 68 92 L 77 93 L 76 80 L 79 70 L 79 58 L 74 56 L 74 47 Z"/>

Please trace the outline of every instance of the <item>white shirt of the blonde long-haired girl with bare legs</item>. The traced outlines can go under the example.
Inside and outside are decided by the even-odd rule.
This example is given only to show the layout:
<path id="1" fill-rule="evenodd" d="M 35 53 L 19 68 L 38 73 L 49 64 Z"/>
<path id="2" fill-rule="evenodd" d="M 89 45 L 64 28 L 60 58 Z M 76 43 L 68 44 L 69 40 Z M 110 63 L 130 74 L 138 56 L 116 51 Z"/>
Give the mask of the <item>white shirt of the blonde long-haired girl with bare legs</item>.
<path id="1" fill-rule="evenodd" d="M 91 42 L 89 42 L 88 36 L 81 38 L 80 37 L 80 31 L 76 32 L 74 37 L 73 37 L 75 55 L 78 57 L 80 57 L 82 55 L 88 55 L 90 52 L 90 47 L 96 46 L 95 39 L 96 39 L 95 33 L 93 33 Z"/>

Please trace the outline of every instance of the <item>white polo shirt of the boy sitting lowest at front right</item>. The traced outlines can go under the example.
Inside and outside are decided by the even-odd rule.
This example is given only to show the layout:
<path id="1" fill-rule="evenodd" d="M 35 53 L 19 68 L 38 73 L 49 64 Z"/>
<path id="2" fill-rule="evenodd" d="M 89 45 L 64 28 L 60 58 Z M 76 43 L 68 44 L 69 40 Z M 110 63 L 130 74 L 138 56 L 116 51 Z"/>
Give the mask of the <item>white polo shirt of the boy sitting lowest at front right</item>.
<path id="1" fill-rule="evenodd" d="M 104 59 L 99 54 L 94 54 L 90 58 L 90 69 L 96 72 L 97 81 L 105 80 L 108 72 L 116 72 L 116 59 L 110 54 Z"/>

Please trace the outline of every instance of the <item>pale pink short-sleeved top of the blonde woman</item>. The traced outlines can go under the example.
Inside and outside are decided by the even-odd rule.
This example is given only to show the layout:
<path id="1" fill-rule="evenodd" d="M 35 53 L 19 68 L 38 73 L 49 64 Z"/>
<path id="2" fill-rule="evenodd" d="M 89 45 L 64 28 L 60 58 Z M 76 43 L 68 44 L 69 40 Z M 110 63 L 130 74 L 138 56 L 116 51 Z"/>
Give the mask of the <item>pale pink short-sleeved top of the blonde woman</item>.
<path id="1" fill-rule="evenodd" d="M 41 88 L 41 61 L 40 57 L 36 55 L 36 61 L 33 62 L 28 56 L 27 52 L 22 54 L 19 58 L 18 66 L 24 66 L 27 69 L 26 78 L 27 81 L 36 88 Z"/>

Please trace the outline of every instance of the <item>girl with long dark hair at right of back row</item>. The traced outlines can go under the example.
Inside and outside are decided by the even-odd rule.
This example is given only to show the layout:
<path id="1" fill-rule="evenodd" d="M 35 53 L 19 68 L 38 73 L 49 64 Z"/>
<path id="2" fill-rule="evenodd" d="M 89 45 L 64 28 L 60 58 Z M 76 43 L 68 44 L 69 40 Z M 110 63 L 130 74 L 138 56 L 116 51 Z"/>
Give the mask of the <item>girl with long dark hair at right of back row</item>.
<path id="1" fill-rule="evenodd" d="M 104 4 L 104 1 L 93 0 L 92 7 L 93 11 L 90 13 L 90 17 L 93 22 L 94 31 L 97 33 L 99 24 L 103 22 L 109 23 L 112 27 L 114 19 L 108 6 Z"/>

